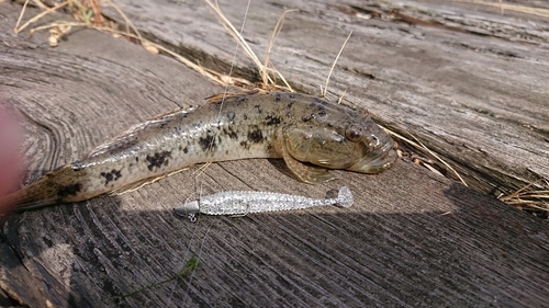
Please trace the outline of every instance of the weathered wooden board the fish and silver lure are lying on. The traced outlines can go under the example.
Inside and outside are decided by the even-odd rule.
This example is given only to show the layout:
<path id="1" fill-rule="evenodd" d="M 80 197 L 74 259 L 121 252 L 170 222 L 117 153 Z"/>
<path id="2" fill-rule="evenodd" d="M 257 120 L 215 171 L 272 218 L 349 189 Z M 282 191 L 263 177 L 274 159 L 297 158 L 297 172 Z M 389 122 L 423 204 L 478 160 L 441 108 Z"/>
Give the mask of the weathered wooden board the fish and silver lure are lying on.
<path id="1" fill-rule="evenodd" d="M 11 32 L 19 10 L 0 2 L 0 102 L 23 115 L 22 152 L 34 171 L 27 181 L 132 124 L 223 90 L 171 59 L 94 31 L 77 31 L 57 48 L 44 35 L 26 41 Z M 221 37 L 202 30 L 212 42 Z M 359 85 L 349 79 L 348 87 Z M 358 104 L 355 95 L 347 100 Z M 380 101 L 365 102 L 360 106 L 389 123 Z M 277 161 L 193 171 L 116 197 L 11 216 L 1 232 L 0 304 L 542 307 L 549 298 L 546 223 L 406 160 L 374 176 L 337 172 L 339 180 L 315 186 L 281 173 Z M 355 194 L 349 209 L 201 217 L 198 224 L 172 213 L 197 193 L 322 197 L 341 185 Z M 190 274 L 115 298 L 173 276 L 193 253 L 200 265 Z"/>

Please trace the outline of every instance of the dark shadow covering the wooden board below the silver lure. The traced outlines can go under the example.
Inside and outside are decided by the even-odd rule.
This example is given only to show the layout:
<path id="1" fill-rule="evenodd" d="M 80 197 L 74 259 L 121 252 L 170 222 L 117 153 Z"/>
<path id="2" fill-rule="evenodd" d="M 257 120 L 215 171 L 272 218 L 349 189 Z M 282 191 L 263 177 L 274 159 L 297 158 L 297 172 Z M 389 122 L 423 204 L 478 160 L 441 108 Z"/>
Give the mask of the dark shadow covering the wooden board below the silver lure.
<path id="1" fill-rule="evenodd" d="M 362 204 L 349 210 L 202 216 L 198 224 L 170 208 L 132 210 L 123 199 L 103 197 L 14 217 L 4 233 L 44 286 L 43 298 L 56 307 L 536 306 L 545 300 L 539 286 L 547 282 L 549 232 L 540 221 L 525 226 L 525 214 L 459 184 L 429 196 L 453 202 L 447 213 L 414 205 L 392 213 L 391 204 L 366 205 L 369 192 L 352 190 Z M 169 278 L 193 253 L 200 265 L 189 275 L 112 299 Z M 23 265 L 10 266 L 8 272 L 16 273 Z"/>

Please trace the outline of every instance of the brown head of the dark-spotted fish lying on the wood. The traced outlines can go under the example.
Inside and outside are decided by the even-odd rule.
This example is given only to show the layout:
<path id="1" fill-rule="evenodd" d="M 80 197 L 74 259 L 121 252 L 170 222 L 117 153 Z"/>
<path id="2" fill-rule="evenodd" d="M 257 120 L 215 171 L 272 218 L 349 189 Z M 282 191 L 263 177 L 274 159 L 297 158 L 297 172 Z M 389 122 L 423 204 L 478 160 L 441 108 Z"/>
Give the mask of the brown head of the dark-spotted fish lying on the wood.
<path id="1" fill-rule="evenodd" d="M 285 147 L 282 157 L 287 164 L 295 160 L 323 169 L 360 173 L 379 173 L 394 164 L 393 139 L 369 116 L 340 105 L 324 111 L 323 116 L 289 125 L 279 134 Z M 321 181 L 305 179 L 305 182 Z"/>

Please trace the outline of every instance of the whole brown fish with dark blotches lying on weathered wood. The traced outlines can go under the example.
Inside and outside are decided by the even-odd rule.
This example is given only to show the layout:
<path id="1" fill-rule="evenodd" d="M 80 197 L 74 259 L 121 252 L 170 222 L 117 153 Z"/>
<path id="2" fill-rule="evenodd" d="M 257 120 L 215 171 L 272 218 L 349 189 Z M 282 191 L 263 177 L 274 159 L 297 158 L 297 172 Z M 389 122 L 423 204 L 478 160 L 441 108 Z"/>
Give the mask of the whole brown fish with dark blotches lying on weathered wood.
<path id="1" fill-rule="evenodd" d="M 328 169 L 378 173 L 396 155 L 367 115 L 298 93 L 234 95 L 130 128 L 81 160 L 9 196 L 14 210 L 85 201 L 201 163 L 282 158 L 302 182 L 334 179 Z"/>

